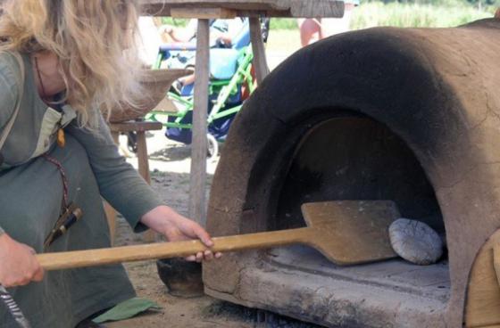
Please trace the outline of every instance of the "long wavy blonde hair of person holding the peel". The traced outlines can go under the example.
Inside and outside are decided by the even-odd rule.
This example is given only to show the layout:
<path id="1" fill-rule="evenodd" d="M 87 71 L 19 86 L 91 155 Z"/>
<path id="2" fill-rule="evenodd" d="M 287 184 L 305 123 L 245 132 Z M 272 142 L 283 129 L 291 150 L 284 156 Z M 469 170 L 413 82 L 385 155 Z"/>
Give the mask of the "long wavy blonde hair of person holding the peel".
<path id="1" fill-rule="evenodd" d="M 63 102 L 81 126 L 96 124 L 96 109 L 110 115 L 137 107 L 142 89 L 134 0 L 0 1 L 0 51 L 49 51 L 60 61 Z"/>

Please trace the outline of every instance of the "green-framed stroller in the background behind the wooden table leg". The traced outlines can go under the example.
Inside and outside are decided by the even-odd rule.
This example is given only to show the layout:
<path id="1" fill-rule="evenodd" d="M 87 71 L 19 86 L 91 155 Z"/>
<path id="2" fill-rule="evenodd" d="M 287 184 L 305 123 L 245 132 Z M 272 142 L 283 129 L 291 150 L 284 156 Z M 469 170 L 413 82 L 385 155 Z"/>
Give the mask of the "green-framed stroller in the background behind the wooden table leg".
<path id="1" fill-rule="evenodd" d="M 269 26 L 264 23 L 264 28 Z M 267 31 L 267 29 L 265 29 Z M 194 66 L 196 45 L 165 45 L 160 48 L 155 67 L 164 61 L 170 68 Z M 254 55 L 250 45 L 248 22 L 232 40 L 230 47 L 213 45 L 210 50 L 210 84 L 207 119 L 207 153 L 214 158 L 219 152 L 219 143 L 228 134 L 231 122 L 241 109 L 243 102 L 255 89 L 252 71 Z M 174 87 L 167 94 L 177 108 L 176 112 L 151 111 L 146 119 L 162 122 L 167 138 L 180 143 L 192 142 L 194 84 Z"/>

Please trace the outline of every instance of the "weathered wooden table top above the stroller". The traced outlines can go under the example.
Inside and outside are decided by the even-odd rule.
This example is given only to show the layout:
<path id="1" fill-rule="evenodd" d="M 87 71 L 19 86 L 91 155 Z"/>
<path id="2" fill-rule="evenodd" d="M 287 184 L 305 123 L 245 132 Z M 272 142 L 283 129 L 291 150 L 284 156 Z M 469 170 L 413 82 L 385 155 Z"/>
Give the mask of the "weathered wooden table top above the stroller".
<path id="1" fill-rule="evenodd" d="M 337 0 L 141 0 L 143 11 L 171 16 L 171 9 L 223 8 L 237 16 L 342 17 L 344 2 Z"/>

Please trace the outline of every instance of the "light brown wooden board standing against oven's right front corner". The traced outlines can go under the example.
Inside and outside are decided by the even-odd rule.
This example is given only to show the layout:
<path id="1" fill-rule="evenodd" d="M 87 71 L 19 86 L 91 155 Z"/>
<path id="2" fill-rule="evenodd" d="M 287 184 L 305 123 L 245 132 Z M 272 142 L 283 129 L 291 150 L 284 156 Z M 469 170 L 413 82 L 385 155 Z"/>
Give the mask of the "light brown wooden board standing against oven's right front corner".
<path id="1" fill-rule="evenodd" d="M 498 262 L 500 230 L 496 231 L 485 245 L 472 266 L 465 307 L 467 327 L 489 327 L 500 325 L 500 287 L 496 275 L 494 248 Z"/>

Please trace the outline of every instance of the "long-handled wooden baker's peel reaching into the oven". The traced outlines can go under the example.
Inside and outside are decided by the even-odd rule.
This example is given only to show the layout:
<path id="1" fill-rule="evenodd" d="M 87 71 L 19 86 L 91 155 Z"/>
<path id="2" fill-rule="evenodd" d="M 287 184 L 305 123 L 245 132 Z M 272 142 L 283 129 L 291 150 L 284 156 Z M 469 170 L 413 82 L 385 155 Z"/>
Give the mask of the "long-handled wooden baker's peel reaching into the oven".
<path id="1" fill-rule="evenodd" d="M 393 201 L 327 201 L 302 206 L 307 227 L 213 238 L 212 251 L 254 250 L 301 243 L 337 265 L 394 258 L 388 226 L 399 216 Z M 37 255 L 46 270 L 154 258 L 186 257 L 207 248 L 202 242 L 161 242 Z"/>

